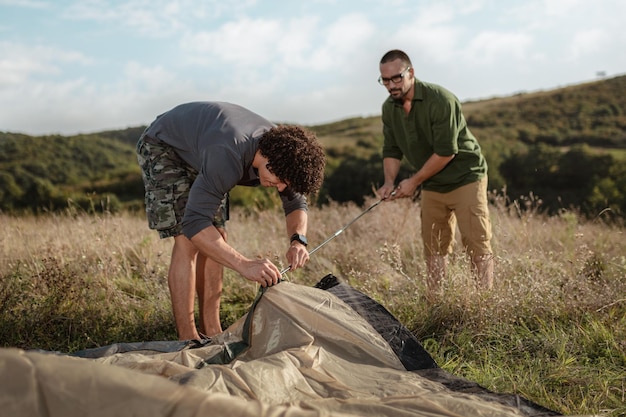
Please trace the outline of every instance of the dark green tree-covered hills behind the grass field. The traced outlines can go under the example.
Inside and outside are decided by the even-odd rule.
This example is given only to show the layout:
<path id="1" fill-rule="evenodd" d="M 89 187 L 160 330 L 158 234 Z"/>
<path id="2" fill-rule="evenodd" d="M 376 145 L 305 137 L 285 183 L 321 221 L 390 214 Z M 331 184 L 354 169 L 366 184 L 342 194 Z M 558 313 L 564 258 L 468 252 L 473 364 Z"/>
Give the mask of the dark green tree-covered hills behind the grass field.
<path id="1" fill-rule="evenodd" d="M 489 164 L 489 188 L 511 203 L 536 196 L 554 214 L 626 213 L 626 76 L 554 91 L 464 103 Z M 310 126 L 327 152 L 315 204 L 362 204 L 382 184 L 380 117 Z M 144 126 L 75 136 L 0 132 L 0 210 L 41 213 L 143 209 L 135 143 Z M 400 177 L 413 172 L 403 164 Z M 277 204 L 262 187 L 233 203 Z"/>

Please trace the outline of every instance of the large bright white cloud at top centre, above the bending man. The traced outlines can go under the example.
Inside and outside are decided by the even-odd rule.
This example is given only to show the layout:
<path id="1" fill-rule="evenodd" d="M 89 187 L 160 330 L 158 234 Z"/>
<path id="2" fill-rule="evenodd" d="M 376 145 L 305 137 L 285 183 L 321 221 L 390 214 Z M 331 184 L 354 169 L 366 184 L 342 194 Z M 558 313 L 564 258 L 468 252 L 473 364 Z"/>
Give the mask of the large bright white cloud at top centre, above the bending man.
<path id="1" fill-rule="evenodd" d="M 314 76 L 337 77 L 357 70 L 363 51 L 375 34 L 372 23 L 360 14 L 323 22 L 316 16 L 229 21 L 212 31 L 187 34 L 181 41 L 190 64 L 219 67 L 248 94 L 285 86 L 298 89 L 319 83 Z M 217 64 L 219 63 L 219 64 Z M 310 76 L 303 78 L 302 74 Z M 343 76 L 342 76 L 343 77 Z M 235 86 L 234 84 L 237 84 Z M 254 91 L 254 92 L 253 92 Z"/>

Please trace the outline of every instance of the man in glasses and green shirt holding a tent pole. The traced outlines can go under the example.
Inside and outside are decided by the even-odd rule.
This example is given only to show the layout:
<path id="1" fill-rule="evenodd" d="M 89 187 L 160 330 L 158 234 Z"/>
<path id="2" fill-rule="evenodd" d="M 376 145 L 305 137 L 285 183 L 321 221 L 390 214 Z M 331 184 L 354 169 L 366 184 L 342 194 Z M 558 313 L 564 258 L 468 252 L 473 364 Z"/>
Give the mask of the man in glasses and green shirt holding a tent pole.
<path id="1" fill-rule="evenodd" d="M 429 292 L 436 292 L 446 275 L 457 221 L 478 283 L 490 289 L 493 252 L 487 163 L 467 127 L 461 103 L 445 88 L 415 78 L 403 51 L 387 52 L 380 60 L 380 74 L 378 81 L 389 91 L 389 98 L 382 106 L 385 182 L 378 194 L 394 200 L 412 197 L 422 187 Z M 395 185 L 403 157 L 417 172 Z"/>

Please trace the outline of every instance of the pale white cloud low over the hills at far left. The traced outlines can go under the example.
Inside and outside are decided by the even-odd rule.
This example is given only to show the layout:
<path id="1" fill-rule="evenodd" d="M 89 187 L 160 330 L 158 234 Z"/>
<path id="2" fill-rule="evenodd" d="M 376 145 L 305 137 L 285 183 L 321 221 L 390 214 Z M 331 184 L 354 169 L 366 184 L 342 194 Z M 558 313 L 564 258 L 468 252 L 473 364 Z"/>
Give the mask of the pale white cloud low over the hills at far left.
<path id="1" fill-rule="evenodd" d="M 148 123 L 167 106 L 193 94 L 196 89 L 192 82 L 181 80 L 162 67 L 131 62 L 111 84 L 99 84 L 85 77 L 19 83 L 0 91 L 0 106 L 11 109 L 14 130 L 33 134 L 76 133 Z M 4 119 L 0 115 L 0 125 L 6 124 Z M 120 125 L 121 120 L 126 122 Z"/>

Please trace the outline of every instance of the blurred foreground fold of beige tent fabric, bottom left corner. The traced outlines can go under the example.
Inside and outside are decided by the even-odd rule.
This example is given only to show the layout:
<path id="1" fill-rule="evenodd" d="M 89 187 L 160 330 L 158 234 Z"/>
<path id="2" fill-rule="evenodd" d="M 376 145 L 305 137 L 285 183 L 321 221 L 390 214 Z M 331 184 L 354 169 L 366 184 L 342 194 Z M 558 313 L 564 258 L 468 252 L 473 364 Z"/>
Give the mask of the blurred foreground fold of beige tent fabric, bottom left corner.
<path id="1" fill-rule="evenodd" d="M 294 416 L 319 414 L 209 394 L 90 359 L 0 350 L 0 410 L 19 417 Z"/>

